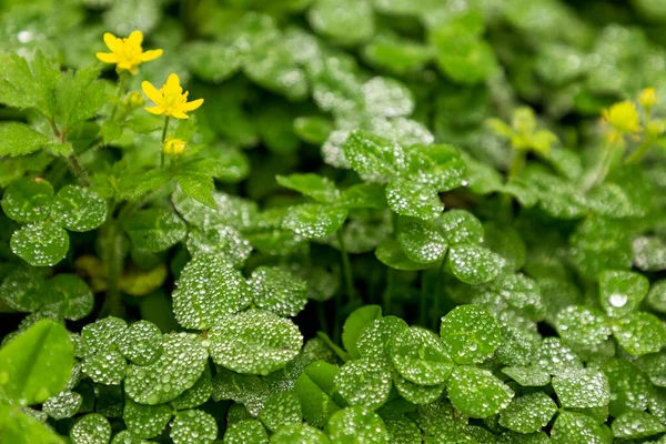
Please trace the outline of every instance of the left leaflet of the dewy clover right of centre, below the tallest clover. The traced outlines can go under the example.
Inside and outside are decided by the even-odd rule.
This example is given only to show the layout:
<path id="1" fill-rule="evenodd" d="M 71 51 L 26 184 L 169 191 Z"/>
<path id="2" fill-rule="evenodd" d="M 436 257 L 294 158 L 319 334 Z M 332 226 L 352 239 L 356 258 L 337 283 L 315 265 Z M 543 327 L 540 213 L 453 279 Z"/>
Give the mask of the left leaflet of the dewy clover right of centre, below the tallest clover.
<path id="1" fill-rule="evenodd" d="M 401 228 L 397 240 L 405 255 L 413 262 L 438 262 L 446 253 L 446 240 L 426 222 L 406 223 Z"/>

